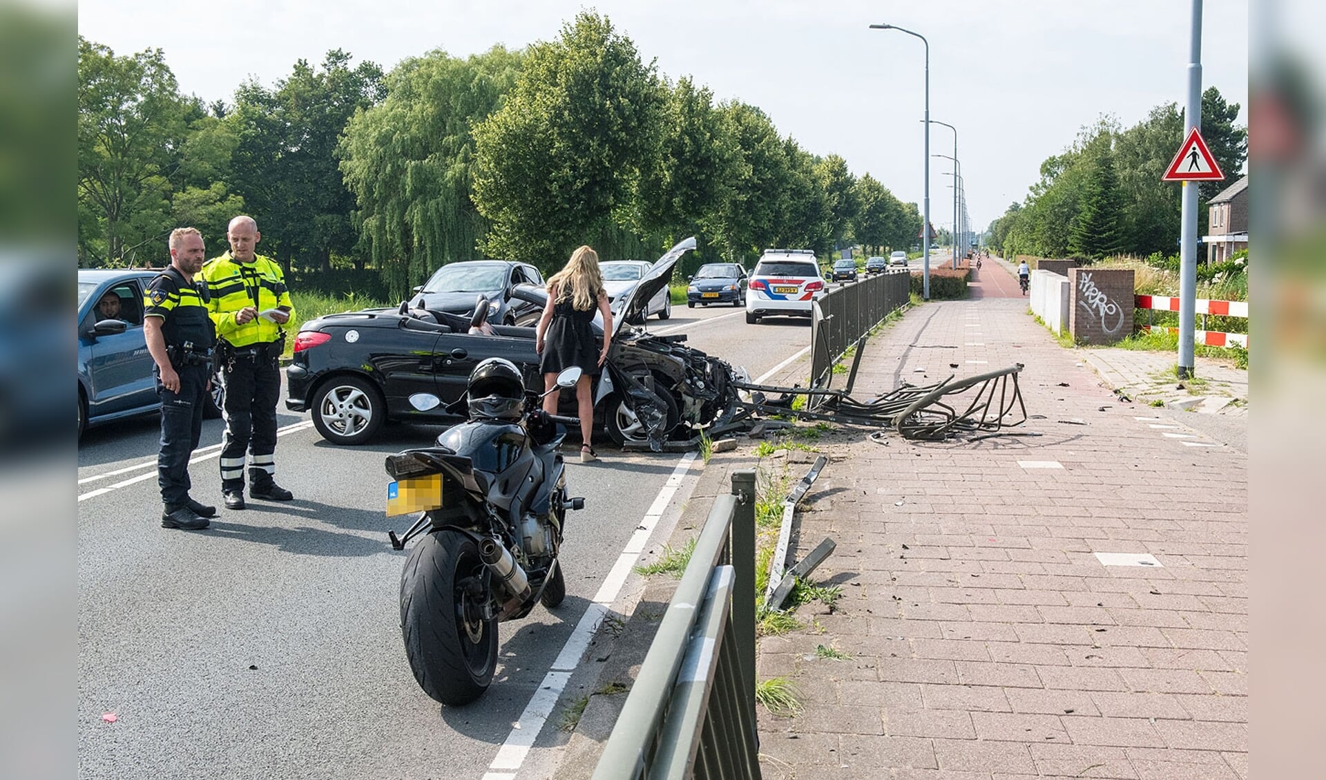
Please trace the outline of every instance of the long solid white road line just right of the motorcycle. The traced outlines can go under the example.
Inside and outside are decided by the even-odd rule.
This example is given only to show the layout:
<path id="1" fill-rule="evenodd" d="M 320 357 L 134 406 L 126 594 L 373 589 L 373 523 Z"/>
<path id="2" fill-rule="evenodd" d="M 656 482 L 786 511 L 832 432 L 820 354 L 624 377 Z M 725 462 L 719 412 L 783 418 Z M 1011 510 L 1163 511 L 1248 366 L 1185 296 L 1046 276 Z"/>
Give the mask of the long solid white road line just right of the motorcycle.
<path id="1" fill-rule="evenodd" d="M 676 493 L 682 479 L 690 471 L 691 463 L 695 462 L 697 455 L 699 452 L 687 452 L 683 455 L 676 468 L 672 470 L 672 475 L 668 476 L 667 483 L 659 489 L 658 497 L 650 504 L 644 519 L 640 520 L 635 533 L 627 540 L 622 554 L 618 556 L 617 562 L 613 565 L 613 570 L 603 578 L 603 585 L 594 594 L 594 601 L 585 610 L 585 614 L 581 616 L 579 622 L 575 623 L 575 630 L 572 631 L 566 643 L 562 645 L 562 650 L 557 654 L 557 659 L 553 661 L 552 669 L 544 675 L 544 682 L 540 683 L 538 690 L 530 696 L 525 711 L 516 720 L 514 728 L 507 735 L 507 742 L 497 749 L 497 756 L 488 765 L 488 772 L 483 780 L 513 780 L 516 777 L 516 772 L 525 763 L 525 757 L 529 756 L 529 751 L 534 747 L 538 734 L 544 730 L 544 724 L 548 723 L 549 715 L 552 715 L 553 708 L 557 706 L 557 699 L 561 698 L 562 690 L 566 688 L 566 682 L 572 678 L 575 667 L 579 666 L 581 658 L 583 658 L 585 650 L 598 631 L 599 623 L 603 622 L 607 610 L 617 601 L 617 596 L 621 593 L 622 585 L 626 584 L 626 578 L 635 566 L 635 561 L 640 558 L 640 552 L 644 551 L 650 535 L 654 532 L 655 525 L 658 525 L 664 509 L 667 509 L 668 503 L 672 500 L 672 495 Z"/>

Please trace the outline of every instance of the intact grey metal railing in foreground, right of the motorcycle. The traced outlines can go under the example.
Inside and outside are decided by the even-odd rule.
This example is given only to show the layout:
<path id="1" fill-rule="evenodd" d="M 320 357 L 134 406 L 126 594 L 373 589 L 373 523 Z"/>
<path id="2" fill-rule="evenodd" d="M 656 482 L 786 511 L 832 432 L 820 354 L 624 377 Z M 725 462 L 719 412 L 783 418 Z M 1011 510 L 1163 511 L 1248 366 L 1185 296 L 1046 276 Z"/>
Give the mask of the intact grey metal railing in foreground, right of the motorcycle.
<path id="1" fill-rule="evenodd" d="M 593 780 L 758 780 L 754 471 L 713 500 Z"/>

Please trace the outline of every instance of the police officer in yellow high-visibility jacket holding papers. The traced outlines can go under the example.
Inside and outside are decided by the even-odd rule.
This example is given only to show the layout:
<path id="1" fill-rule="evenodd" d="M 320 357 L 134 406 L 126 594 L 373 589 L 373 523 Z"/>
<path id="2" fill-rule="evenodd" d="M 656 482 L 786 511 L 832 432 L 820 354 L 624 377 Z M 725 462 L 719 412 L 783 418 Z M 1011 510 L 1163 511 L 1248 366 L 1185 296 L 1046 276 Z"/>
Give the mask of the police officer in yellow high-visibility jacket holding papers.
<path id="1" fill-rule="evenodd" d="M 249 495 L 289 501 L 276 484 L 276 403 L 281 395 L 277 361 L 285 349 L 286 322 L 294 317 L 281 267 L 257 255 L 257 223 L 236 216 L 227 228 L 231 251 L 203 267 L 211 293 L 208 312 L 216 322 L 221 387 L 225 390 L 225 444 L 221 448 L 221 495 L 227 509 L 244 508 L 244 455 L 248 452 Z"/>

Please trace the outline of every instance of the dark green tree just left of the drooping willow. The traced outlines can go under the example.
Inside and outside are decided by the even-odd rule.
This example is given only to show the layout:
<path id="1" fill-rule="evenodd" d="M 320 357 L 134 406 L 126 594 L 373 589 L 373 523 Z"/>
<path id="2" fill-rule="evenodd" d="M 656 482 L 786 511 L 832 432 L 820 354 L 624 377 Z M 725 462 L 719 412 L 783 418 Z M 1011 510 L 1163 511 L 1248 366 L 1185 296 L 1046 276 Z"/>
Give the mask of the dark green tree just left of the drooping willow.
<path id="1" fill-rule="evenodd" d="M 321 68 L 298 60 L 272 90 L 247 81 L 225 118 L 239 137 L 236 190 L 263 232 L 261 249 L 286 269 L 294 260 L 329 269 L 358 239 L 335 150 L 355 109 L 382 98 L 383 74 L 373 62 L 351 68 L 350 58 L 333 49 Z"/>

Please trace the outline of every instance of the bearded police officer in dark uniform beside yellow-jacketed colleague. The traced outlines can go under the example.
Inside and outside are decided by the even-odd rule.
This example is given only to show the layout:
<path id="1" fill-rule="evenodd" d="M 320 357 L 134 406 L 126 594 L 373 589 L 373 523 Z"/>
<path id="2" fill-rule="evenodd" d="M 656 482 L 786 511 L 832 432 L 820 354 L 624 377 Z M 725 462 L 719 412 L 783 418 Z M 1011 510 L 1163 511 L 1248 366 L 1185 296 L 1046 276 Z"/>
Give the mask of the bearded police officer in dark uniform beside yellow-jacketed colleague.
<path id="1" fill-rule="evenodd" d="M 156 362 L 156 394 L 162 399 L 162 442 L 156 482 L 162 488 L 162 528 L 200 531 L 215 507 L 188 495 L 188 456 L 203 432 L 203 405 L 211 389 L 215 330 L 207 313 L 207 288 L 195 287 L 202 271 L 203 236 L 195 228 L 170 235 L 171 265 L 147 285 L 143 296 L 143 336 Z"/>

